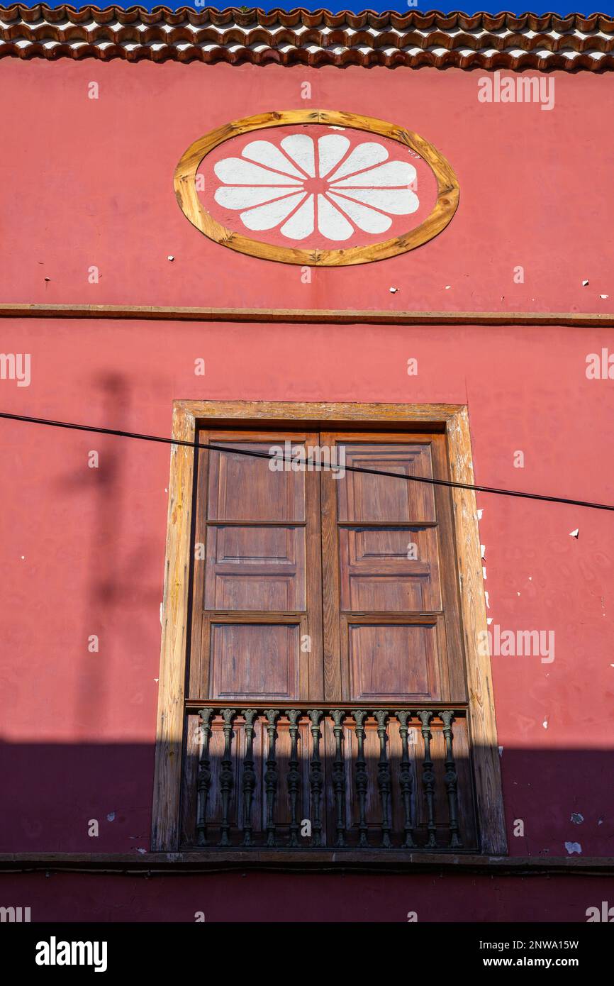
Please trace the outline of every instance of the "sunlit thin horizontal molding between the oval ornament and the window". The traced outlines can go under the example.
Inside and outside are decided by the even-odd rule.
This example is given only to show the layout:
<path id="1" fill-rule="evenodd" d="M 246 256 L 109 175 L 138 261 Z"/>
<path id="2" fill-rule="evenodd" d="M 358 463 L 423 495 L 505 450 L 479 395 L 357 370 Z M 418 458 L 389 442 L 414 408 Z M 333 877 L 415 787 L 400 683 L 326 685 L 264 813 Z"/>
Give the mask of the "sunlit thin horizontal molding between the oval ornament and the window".
<path id="1" fill-rule="evenodd" d="M 0 303 L 1 318 L 119 318 L 156 321 L 305 322 L 340 325 L 614 326 L 597 312 L 392 312 L 352 309 L 171 308 L 151 305 L 28 305 Z"/>

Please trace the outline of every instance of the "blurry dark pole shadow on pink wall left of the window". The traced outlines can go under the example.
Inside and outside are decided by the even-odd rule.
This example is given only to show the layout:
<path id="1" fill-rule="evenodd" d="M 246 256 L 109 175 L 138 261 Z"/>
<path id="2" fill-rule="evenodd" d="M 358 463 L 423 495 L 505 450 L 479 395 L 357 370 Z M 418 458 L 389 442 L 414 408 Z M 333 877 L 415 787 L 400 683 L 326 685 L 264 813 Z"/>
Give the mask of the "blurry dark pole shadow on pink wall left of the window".
<path id="1" fill-rule="evenodd" d="M 93 405 L 104 427 L 129 430 L 134 416 L 131 387 L 121 374 L 109 371 L 95 379 Z M 126 660 L 131 668 L 151 667 L 148 641 L 152 614 L 158 613 L 163 561 L 155 538 L 138 537 L 141 492 L 140 465 L 151 450 L 145 443 L 102 434 L 82 433 L 87 447 L 87 471 L 71 473 L 61 481 L 65 493 L 79 499 L 78 513 L 87 514 L 87 572 L 84 578 L 80 669 L 75 674 L 75 734 L 91 738 L 92 723 L 109 715 L 116 696 L 107 679 L 112 663 Z M 147 488 L 145 495 L 147 495 Z M 84 510 L 84 496 L 87 502 Z M 132 546 L 137 540 L 137 545 Z M 153 628 L 159 633 L 159 627 Z M 147 656 L 144 650 L 148 648 Z M 109 664 L 110 663 L 110 664 Z M 116 673 L 113 675 L 117 680 Z M 148 681 L 149 683 L 149 681 Z M 152 686 L 154 682 L 151 682 Z M 124 696 L 125 701 L 125 696 Z M 128 702 L 136 710 L 145 692 L 136 691 Z"/>

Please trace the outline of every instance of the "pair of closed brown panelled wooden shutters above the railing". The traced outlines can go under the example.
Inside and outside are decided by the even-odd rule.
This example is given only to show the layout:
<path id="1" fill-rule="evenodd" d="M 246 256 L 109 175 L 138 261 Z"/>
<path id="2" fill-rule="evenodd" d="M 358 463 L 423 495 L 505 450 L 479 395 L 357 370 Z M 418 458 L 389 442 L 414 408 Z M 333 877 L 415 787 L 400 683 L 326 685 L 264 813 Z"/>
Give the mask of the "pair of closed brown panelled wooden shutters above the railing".
<path id="1" fill-rule="evenodd" d="M 240 455 L 319 445 L 333 461 L 343 449 L 350 466 L 445 478 L 443 435 L 201 431 L 199 441 L 229 452 L 199 454 L 190 697 L 466 701 L 449 490 Z"/>

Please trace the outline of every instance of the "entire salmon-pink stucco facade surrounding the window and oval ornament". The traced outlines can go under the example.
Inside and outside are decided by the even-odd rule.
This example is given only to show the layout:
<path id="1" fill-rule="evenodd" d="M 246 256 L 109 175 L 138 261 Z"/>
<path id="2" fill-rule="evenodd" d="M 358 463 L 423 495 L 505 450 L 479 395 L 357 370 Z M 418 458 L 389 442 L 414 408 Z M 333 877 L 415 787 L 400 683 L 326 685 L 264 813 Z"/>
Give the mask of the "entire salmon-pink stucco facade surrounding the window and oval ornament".
<path id="1" fill-rule="evenodd" d="M 612 77 L 533 72 L 555 87 L 545 108 L 481 102 L 486 74 L 0 60 L 0 350 L 30 355 L 28 381 L 6 364 L 0 410 L 169 437 L 180 399 L 466 405 L 476 483 L 614 503 Z M 434 145 L 460 192 L 440 235 L 378 262 L 321 267 L 229 249 L 187 221 L 173 173 L 190 144 L 232 120 L 311 107 Z M 8 305 L 44 312 L 11 316 Z M 54 305 L 363 315 L 58 317 Z M 369 312 L 399 318 L 368 323 Z M 490 323 L 411 324 L 407 312 L 490 313 Z M 522 313 L 540 315 L 521 323 Z M 28 898 L 33 920 L 66 921 L 201 910 L 207 921 L 404 921 L 416 910 L 584 921 L 599 904 L 594 869 L 614 838 L 611 513 L 477 493 L 493 639 L 537 630 L 549 642 L 491 657 L 512 858 L 502 872 L 501 860 L 459 865 L 444 902 L 435 864 L 125 880 L 122 868 L 172 862 L 150 855 L 170 450 L 14 420 L 0 421 L 0 447 L 0 852 L 13 870 L 29 859 L 43 869 L 49 853 L 75 854 L 86 870 L 88 854 L 108 854 L 103 869 L 117 873 L 7 874 L 5 903 Z M 523 874 L 536 870 L 530 896 L 528 878 L 510 872 L 516 858 Z"/>

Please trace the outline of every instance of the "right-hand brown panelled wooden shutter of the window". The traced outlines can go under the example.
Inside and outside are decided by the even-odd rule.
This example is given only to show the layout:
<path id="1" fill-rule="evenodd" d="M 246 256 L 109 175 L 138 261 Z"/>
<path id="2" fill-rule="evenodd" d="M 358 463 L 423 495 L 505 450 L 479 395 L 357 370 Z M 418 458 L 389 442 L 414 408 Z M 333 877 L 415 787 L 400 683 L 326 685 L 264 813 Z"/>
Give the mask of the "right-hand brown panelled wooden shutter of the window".
<path id="1" fill-rule="evenodd" d="M 443 435 L 326 433 L 346 464 L 446 478 Z M 321 473 L 326 698 L 464 702 L 449 490 Z"/>

